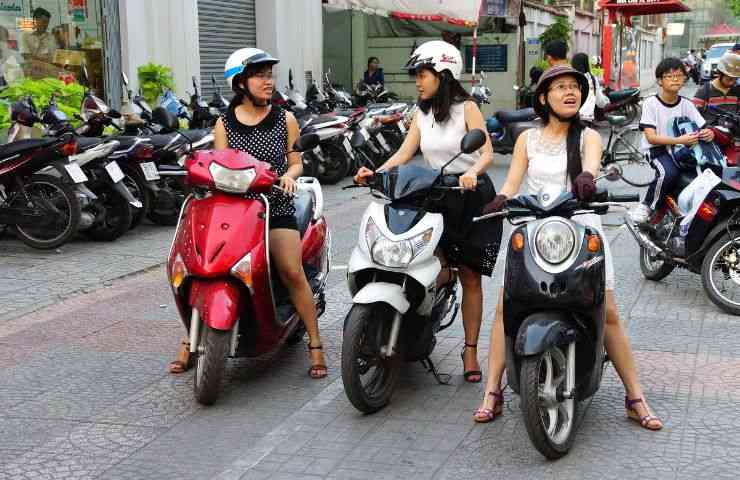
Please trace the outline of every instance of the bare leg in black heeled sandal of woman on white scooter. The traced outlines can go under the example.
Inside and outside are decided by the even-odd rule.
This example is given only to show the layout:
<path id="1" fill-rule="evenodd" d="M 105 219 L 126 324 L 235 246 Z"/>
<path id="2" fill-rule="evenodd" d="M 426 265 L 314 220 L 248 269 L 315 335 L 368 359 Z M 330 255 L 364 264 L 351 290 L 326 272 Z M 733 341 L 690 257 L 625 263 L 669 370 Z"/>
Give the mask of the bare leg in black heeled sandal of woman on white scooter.
<path id="1" fill-rule="evenodd" d="M 465 330 L 465 344 L 477 345 L 480 325 L 483 320 L 483 288 L 481 274 L 471 268 L 462 266 L 459 271 L 462 284 L 462 314 Z M 480 371 L 478 349 L 467 347 L 463 350 L 463 371 Z M 467 381 L 480 382 L 480 375 L 469 375 Z"/>

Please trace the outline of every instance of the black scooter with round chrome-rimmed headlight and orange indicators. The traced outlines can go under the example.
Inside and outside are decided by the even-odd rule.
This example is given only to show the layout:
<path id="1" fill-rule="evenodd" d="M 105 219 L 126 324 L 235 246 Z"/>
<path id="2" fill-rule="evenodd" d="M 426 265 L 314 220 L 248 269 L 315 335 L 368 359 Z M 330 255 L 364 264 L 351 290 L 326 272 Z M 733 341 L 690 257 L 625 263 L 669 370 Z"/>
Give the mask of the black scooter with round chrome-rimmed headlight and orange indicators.
<path id="1" fill-rule="evenodd" d="M 606 362 L 606 266 L 598 230 L 572 220 L 606 214 L 637 195 L 597 192 L 581 202 L 560 189 L 522 195 L 506 209 L 514 228 L 504 280 L 506 376 L 521 397 L 524 424 L 548 459 L 568 453 L 582 403 L 601 384 Z"/>

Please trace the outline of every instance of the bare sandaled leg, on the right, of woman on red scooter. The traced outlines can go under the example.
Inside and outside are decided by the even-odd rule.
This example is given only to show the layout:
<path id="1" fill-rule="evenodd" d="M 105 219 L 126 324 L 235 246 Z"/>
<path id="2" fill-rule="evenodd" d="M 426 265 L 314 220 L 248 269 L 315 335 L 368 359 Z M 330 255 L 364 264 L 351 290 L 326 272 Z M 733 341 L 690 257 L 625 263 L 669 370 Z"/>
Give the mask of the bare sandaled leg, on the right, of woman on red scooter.
<path id="1" fill-rule="evenodd" d="M 301 259 L 301 239 L 297 231 L 287 228 L 276 228 L 270 231 L 270 249 L 273 254 L 280 280 L 288 289 L 293 306 L 301 317 L 308 332 L 309 346 L 321 345 L 319 322 L 316 315 L 316 305 L 313 301 L 311 287 L 306 280 Z M 326 365 L 324 353 L 321 350 L 309 350 L 312 365 Z M 312 370 L 312 377 L 326 376 L 326 368 Z"/>

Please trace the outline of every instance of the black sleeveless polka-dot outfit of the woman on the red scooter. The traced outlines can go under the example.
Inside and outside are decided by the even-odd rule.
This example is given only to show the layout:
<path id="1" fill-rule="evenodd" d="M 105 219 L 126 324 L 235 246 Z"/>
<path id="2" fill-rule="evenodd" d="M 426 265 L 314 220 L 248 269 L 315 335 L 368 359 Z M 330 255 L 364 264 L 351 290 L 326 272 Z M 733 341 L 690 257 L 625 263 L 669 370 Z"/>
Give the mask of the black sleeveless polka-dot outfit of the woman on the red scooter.
<path id="1" fill-rule="evenodd" d="M 236 118 L 233 108 L 221 115 L 226 129 L 229 148 L 241 150 L 272 165 L 278 177 L 288 171 L 288 124 L 285 110 L 272 106 L 270 113 L 254 126 L 245 125 Z M 259 199 L 259 195 L 247 194 L 250 198 Z M 293 199 L 278 191 L 267 194 L 270 202 L 270 218 L 295 215 Z"/>

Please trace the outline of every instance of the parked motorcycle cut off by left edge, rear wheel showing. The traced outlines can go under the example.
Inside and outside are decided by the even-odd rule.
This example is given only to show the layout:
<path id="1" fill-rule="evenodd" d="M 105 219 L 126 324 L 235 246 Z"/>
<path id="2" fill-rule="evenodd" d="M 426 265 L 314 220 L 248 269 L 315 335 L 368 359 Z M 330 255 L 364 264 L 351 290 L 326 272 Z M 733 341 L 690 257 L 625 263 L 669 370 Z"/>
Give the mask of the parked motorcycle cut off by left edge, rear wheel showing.
<path id="1" fill-rule="evenodd" d="M 84 182 L 78 168 L 69 177 L 36 173 L 74 155 L 73 135 L 23 139 L 0 146 L 0 225 L 15 229 L 26 245 L 51 249 L 71 239 L 79 228 L 80 202 L 74 185 Z"/>

